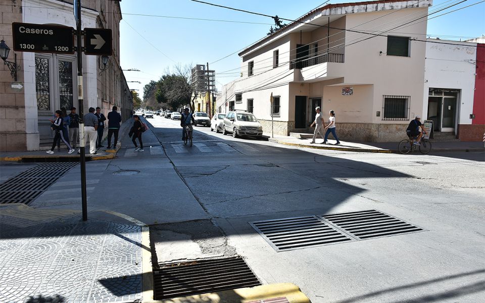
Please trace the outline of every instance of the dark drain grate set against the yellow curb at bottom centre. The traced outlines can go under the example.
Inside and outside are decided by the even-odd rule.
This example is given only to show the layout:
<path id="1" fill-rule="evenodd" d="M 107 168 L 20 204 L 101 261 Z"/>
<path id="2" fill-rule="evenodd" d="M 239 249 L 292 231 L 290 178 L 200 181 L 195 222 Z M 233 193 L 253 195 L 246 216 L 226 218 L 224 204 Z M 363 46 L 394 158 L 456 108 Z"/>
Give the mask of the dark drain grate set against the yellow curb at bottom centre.
<path id="1" fill-rule="evenodd" d="M 168 264 L 154 271 L 154 299 L 261 285 L 241 257 Z"/>

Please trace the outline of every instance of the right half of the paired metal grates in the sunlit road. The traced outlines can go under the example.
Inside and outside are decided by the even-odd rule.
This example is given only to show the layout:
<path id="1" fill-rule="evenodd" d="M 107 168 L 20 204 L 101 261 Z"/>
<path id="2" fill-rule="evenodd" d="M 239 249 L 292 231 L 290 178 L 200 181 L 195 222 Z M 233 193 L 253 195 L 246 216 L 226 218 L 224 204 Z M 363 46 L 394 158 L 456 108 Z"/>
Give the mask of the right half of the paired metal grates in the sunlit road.
<path id="1" fill-rule="evenodd" d="M 321 216 L 358 239 L 394 236 L 422 228 L 376 210 Z"/>

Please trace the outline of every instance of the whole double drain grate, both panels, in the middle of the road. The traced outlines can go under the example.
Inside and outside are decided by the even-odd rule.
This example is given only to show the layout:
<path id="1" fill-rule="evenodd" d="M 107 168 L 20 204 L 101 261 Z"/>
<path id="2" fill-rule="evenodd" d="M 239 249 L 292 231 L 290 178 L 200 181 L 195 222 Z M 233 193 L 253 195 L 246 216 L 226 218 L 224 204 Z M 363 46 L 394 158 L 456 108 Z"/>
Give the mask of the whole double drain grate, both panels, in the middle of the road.
<path id="1" fill-rule="evenodd" d="M 250 222 L 276 250 L 359 241 L 423 231 L 376 210 Z"/>

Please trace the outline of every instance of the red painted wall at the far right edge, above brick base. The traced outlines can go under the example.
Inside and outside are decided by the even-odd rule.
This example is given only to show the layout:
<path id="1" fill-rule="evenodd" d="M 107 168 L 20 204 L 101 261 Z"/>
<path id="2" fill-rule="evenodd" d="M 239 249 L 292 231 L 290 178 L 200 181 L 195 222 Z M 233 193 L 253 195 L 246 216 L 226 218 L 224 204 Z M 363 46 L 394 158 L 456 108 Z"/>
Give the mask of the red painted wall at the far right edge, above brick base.
<path id="1" fill-rule="evenodd" d="M 473 96 L 473 114 L 471 124 L 485 124 L 485 44 L 476 47 L 475 94 Z"/>

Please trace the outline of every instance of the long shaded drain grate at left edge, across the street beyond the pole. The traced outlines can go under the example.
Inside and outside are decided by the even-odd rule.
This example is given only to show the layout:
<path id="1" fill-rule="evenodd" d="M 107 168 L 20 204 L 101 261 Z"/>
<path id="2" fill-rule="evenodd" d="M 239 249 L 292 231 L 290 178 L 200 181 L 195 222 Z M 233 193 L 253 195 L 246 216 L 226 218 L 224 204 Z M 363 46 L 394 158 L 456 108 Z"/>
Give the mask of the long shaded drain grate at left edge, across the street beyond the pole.
<path id="1" fill-rule="evenodd" d="M 42 163 L 0 184 L 0 204 L 29 204 L 55 183 L 76 162 Z"/>

